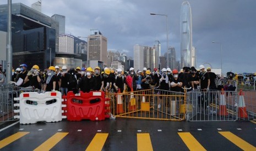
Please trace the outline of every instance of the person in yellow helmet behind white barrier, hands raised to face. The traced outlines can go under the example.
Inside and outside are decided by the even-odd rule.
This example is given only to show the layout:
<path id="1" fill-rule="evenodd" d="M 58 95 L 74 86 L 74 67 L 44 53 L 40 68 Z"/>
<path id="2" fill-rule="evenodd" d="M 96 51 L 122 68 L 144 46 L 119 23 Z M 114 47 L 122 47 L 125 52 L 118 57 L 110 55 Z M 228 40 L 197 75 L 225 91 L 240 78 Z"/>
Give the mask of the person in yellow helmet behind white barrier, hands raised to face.
<path id="1" fill-rule="evenodd" d="M 39 66 L 34 65 L 26 75 L 25 83 L 29 82 L 30 86 L 33 86 L 35 89 L 41 90 L 41 79 L 41 75 L 39 74 Z"/>

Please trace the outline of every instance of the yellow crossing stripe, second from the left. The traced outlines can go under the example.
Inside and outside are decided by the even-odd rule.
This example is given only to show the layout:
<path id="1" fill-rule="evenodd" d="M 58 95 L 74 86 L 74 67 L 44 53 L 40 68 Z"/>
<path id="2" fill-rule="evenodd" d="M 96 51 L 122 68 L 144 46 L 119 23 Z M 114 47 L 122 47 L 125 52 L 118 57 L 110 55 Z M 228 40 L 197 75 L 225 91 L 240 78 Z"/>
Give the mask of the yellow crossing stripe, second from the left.
<path id="1" fill-rule="evenodd" d="M 50 137 L 48 140 L 43 142 L 39 147 L 37 147 L 35 150 L 50 150 L 53 146 L 55 146 L 59 141 L 62 140 L 66 135 L 68 135 L 68 132 L 56 132 L 55 135 Z"/>

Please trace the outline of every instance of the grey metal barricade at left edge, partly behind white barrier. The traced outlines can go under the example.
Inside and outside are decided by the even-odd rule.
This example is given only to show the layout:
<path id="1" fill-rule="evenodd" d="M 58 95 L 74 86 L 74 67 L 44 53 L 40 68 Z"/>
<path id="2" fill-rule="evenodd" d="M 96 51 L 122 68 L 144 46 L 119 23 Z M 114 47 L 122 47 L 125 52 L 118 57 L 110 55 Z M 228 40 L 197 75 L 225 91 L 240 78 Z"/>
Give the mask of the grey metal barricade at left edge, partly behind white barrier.
<path id="1" fill-rule="evenodd" d="M 0 88 L 0 123 L 4 121 L 17 120 L 14 119 L 14 109 L 16 107 L 13 106 L 14 97 L 19 97 L 21 92 L 30 92 L 35 91 L 29 88 L 19 88 L 13 84 L 3 85 Z"/>

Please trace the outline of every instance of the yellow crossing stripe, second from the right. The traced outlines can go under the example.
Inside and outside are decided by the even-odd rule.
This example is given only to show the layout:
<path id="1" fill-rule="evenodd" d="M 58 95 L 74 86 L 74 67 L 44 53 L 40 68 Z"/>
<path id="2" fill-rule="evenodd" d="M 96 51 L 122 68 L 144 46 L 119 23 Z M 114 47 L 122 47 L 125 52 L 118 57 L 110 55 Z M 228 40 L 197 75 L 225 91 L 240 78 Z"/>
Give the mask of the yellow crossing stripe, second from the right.
<path id="1" fill-rule="evenodd" d="M 189 150 L 206 150 L 201 144 L 191 135 L 190 132 L 178 132 L 179 137 L 186 144 Z"/>

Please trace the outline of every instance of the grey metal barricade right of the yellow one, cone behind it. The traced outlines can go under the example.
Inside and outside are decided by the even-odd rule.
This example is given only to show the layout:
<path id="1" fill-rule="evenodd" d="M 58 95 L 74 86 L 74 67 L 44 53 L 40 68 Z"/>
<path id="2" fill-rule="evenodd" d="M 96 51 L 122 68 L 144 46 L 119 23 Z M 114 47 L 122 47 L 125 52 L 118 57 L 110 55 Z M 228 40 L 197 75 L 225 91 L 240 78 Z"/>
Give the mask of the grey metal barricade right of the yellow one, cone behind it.
<path id="1" fill-rule="evenodd" d="M 187 92 L 188 121 L 235 121 L 237 119 L 236 91 Z"/>

